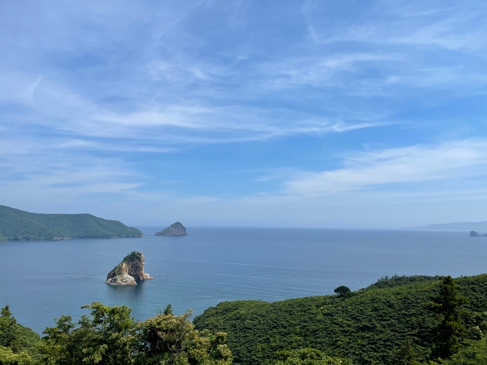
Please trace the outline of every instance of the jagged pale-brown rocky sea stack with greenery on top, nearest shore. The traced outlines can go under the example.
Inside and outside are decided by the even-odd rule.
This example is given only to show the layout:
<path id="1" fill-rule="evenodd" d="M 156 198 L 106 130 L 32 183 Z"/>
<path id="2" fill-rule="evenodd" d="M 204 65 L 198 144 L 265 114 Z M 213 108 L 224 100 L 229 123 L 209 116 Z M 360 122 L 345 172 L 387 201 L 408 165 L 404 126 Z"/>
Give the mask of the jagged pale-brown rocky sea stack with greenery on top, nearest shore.
<path id="1" fill-rule="evenodd" d="M 142 280 L 154 279 L 144 273 L 144 255 L 142 252 L 131 252 L 106 277 L 109 285 L 137 285 Z"/>

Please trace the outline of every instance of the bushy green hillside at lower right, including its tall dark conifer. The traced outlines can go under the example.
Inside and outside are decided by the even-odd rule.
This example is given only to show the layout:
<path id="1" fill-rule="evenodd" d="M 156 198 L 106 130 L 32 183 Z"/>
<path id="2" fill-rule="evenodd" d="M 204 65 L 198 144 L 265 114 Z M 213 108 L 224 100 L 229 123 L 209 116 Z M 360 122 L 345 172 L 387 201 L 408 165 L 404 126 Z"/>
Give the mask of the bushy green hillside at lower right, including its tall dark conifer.
<path id="1" fill-rule="evenodd" d="M 446 364 L 470 364 L 460 358 L 486 356 L 487 275 L 450 279 L 395 276 L 346 295 L 223 302 L 194 323 L 227 332 L 234 364 L 272 364 L 281 350 L 314 348 L 353 364 L 413 365 L 439 361 L 445 346 L 459 350 Z"/>

